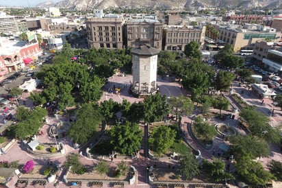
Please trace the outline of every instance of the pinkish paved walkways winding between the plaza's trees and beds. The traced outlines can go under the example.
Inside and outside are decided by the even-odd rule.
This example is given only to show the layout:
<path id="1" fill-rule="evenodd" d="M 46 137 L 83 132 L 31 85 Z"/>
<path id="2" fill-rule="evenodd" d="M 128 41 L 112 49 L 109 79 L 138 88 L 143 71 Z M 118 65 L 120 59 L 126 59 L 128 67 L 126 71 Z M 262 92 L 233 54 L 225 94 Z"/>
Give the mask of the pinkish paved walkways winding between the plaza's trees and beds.
<path id="1" fill-rule="evenodd" d="M 114 99 L 114 101 L 116 102 L 123 102 L 123 99 L 127 99 L 129 102 L 133 103 L 133 102 L 139 102 L 142 99 L 137 99 L 136 97 L 133 97 L 129 94 L 128 89 L 129 89 L 129 84 L 132 80 L 132 76 L 131 75 L 127 75 L 126 77 L 120 77 L 117 75 L 114 75 L 113 78 L 109 79 L 109 83 L 107 83 L 105 85 L 105 91 L 103 92 L 103 97 L 101 98 L 101 101 L 103 100 L 108 100 L 110 98 Z M 188 93 L 184 90 L 181 89 L 179 83 L 177 82 L 171 82 L 171 80 L 169 78 L 157 78 L 157 84 L 159 85 L 159 91 L 160 93 L 162 93 L 163 95 L 167 95 L 168 97 L 170 96 L 179 96 L 179 95 L 187 95 Z M 120 95 L 116 95 L 116 94 L 112 94 L 112 93 L 108 93 L 107 91 L 109 91 L 109 89 L 111 89 L 114 86 L 120 86 L 122 87 L 121 93 Z M 233 84 L 233 92 L 234 93 L 238 93 L 239 95 L 241 95 L 242 90 L 246 90 L 246 88 L 243 86 L 238 86 L 237 83 Z M 228 95 L 228 94 L 227 94 Z M 25 99 L 26 102 L 26 106 L 31 107 L 32 106 L 32 102 L 27 99 L 28 95 L 23 95 L 23 99 Z M 270 99 L 264 99 L 264 104 L 261 104 L 261 101 L 255 96 L 253 95 L 253 93 L 251 93 L 250 91 L 244 92 L 244 94 L 242 95 L 242 97 L 244 99 L 246 99 L 246 102 L 248 102 L 248 104 L 253 104 L 256 105 L 257 107 L 259 107 L 259 110 L 261 110 L 261 112 L 265 113 L 267 115 L 269 108 L 274 108 L 274 115 L 270 117 L 270 115 L 268 114 L 268 116 L 270 117 L 270 120 L 272 122 L 273 126 L 277 126 L 278 124 L 281 124 L 282 122 L 282 118 L 281 118 L 281 110 L 273 107 L 272 106 L 272 101 Z M 211 109 L 212 112 L 214 113 L 219 113 L 219 110 L 216 109 Z M 201 147 L 201 145 L 199 145 L 196 141 L 194 141 L 194 139 L 192 139 L 192 137 L 190 136 L 190 134 L 188 134 L 188 124 L 192 123 L 192 119 L 198 115 L 200 113 L 199 110 L 194 110 L 194 112 L 192 113 L 192 115 L 190 115 L 189 117 L 183 117 L 182 119 L 182 130 L 183 132 L 186 132 L 185 134 L 185 139 L 186 141 L 188 141 L 188 143 L 192 146 L 192 148 L 194 148 L 195 150 L 200 150 L 201 151 L 201 155 L 204 158 L 209 158 L 211 159 L 213 156 L 213 148 L 211 148 L 210 150 L 205 150 L 205 148 Z M 224 111 L 222 110 L 222 114 L 229 114 L 229 111 Z M 238 113 L 232 113 L 233 115 L 235 115 L 235 119 L 227 119 L 225 121 L 222 121 L 220 119 L 209 119 L 209 121 L 211 122 L 211 124 L 216 124 L 218 122 L 220 123 L 228 123 L 229 126 L 233 126 L 236 130 L 238 130 L 238 132 L 243 132 L 243 130 L 240 130 L 240 127 L 238 126 Z M 54 143 L 55 140 L 53 138 L 48 137 L 47 132 L 50 128 L 50 126 L 52 124 L 55 124 L 57 121 L 60 121 L 60 119 L 55 119 L 55 118 L 49 118 L 48 124 L 44 125 L 42 127 L 42 132 L 44 134 L 40 135 L 38 140 L 41 142 L 48 142 L 48 143 Z M 142 126 L 141 126 L 142 127 Z M 72 145 L 71 141 L 69 141 L 68 139 L 57 139 L 57 141 L 62 141 L 66 144 L 66 154 L 68 153 L 79 153 L 79 150 L 75 150 L 73 149 L 70 145 Z M 214 139 L 214 142 L 216 143 L 214 148 L 216 150 L 218 150 L 218 145 L 220 143 L 224 143 L 225 141 L 222 140 L 222 138 L 220 137 L 216 137 Z M 25 163 L 26 161 L 29 161 L 31 159 L 34 159 L 34 162 L 36 163 L 36 165 L 46 165 L 47 161 L 53 161 L 53 163 L 57 163 L 57 164 L 62 164 L 65 161 L 65 156 L 60 156 L 57 158 L 34 158 L 34 156 L 31 156 L 30 154 L 27 154 L 26 152 L 24 152 L 23 150 L 21 150 L 21 143 L 20 142 L 16 142 L 14 143 L 14 145 L 12 145 L 12 147 L 10 148 L 10 150 L 8 151 L 8 154 L 5 154 L 3 156 L 1 156 L 1 160 L 7 160 L 7 161 L 17 161 L 19 160 L 19 163 Z M 272 151 L 271 154 L 271 158 L 274 159 L 279 159 L 281 160 L 282 156 L 281 156 L 281 152 L 279 152 L 277 150 L 277 147 L 275 145 L 270 145 L 270 149 Z M 215 152 L 215 156 L 217 155 L 217 152 Z M 19 157 L 21 156 L 21 157 Z M 119 161 L 121 161 L 122 158 L 118 158 L 114 160 L 114 163 L 110 163 L 110 159 L 107 159 L 107 161 L 109 161 L 110 165 L 116 165 L 116 163 L 118 163 Z M 266 158 L 264 159 L 264 163 L 266 163 L 266 161 L 269 161 L 270 158 Z M 93 165 L 94 163 L 97 163 L 98 161 L 96 159 L 90 159 L 90 158 L 86 158 L 86 157 L 81 157 L 80 158 L 81 163 L 84 163 L 85 165 Z M 142 149 L 140 151 L 140 157 L 137 160 L 133 160 L 131 161 L 130 159 L 127 160 L 127 163 L 134 165 L 137 169 L 138 169 L 138 180 L 136 181 L 135 185 L 131 185 L 131 186 L 125 186 L 125 187 L 149 187 L 149 185 L 147 184 L 147 174 L 146 174 L 146 167 L 148 165 L 158 165 L 158 166 L 163 166 L 163 167 L 167 167 L 168 164 L 176 164 L 177 161 L 174 160 L 164 160 L 164 161 L 151 161 L 148 158 L 145 157 L 144 154 L 144 150 Z M 31 187 L 31 186 L 28 186 Z M 46 187 L 53 187 L 53 184 L 48 184 Z M 60 187 L 68 187 L 67 185 L 64 185 L 63 183 L 60 183 Z M 81 187 L 87 187 L 86 185 L 82 185 Z M 108 187 L 108 185 L 104 185 L 103 187 Z"/>

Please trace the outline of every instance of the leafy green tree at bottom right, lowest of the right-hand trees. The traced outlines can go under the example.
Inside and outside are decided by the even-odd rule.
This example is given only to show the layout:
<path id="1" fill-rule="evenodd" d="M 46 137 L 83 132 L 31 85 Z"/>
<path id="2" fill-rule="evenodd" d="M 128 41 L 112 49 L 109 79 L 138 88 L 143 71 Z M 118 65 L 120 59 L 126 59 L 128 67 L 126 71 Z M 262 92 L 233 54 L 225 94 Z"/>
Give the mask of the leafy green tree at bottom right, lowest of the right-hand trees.
<path id="1" fill-rule="evenodd" d="M 264 170 L 261 163 L 253 161 L 251 154 L 243 153 L 236 158 L 235 169 L 240 178 L 253 185 L 266 185 L 275 180 L 270 172 Z"/>

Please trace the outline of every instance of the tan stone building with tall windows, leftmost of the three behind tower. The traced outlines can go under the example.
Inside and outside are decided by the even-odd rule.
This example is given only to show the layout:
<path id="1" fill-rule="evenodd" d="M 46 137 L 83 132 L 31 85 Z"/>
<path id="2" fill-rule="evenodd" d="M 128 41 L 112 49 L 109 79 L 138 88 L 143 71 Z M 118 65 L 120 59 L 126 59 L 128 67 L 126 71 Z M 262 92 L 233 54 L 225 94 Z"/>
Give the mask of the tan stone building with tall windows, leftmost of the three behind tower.
<path id="1" fill-rule="evenodd" d="M 120 18 L 90 18 L 86 20 L 88 45 L 94 48 L 123 48 L 123 20 Z"/>

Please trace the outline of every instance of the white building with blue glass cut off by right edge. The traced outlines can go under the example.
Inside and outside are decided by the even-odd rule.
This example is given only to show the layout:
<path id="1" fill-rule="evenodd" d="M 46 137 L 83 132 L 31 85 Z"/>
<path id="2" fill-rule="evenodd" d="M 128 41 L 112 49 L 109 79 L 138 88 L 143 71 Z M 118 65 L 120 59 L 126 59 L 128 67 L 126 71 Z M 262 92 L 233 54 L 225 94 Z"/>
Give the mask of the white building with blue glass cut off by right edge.
<path id="1" fill-rule="evenodd" d="M 275 49 L 268 49 L 266 58 L 262 60 L 264 67 L 281 75 L 282 71 L 282 52 Z"/>

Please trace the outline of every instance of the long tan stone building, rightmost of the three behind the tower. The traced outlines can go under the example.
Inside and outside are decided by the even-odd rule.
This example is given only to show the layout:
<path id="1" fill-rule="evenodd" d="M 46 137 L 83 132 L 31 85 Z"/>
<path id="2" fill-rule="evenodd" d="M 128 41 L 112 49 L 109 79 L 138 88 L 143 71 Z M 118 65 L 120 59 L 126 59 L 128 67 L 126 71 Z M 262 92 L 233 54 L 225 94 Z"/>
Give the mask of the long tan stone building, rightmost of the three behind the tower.
<path id="1" fill-rule="evenodd" d="M 164 27 L 163 50 L 184 51 L 185 45 L 196 41 L 201 46 L 205 40 L 205 26 L 169 25 Z"/>

